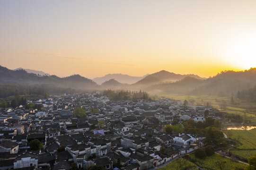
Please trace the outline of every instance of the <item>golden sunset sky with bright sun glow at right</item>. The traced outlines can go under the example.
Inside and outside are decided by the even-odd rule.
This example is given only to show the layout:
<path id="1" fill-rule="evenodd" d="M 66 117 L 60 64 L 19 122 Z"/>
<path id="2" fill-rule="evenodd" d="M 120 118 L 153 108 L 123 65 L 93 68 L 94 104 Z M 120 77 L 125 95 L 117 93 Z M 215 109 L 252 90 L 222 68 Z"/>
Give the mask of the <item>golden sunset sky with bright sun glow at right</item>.
<path id="1" fill-rule="evenodd" d="M 0 0 L 0 65 L 57 76 L 256 67 L 256 0 Z"/>

